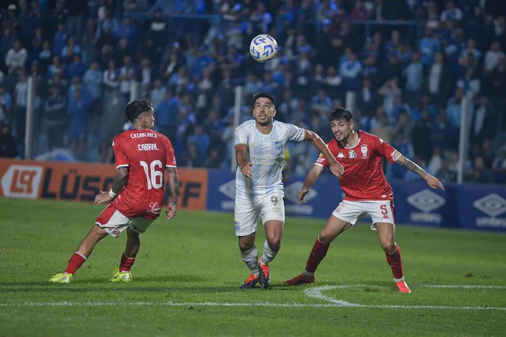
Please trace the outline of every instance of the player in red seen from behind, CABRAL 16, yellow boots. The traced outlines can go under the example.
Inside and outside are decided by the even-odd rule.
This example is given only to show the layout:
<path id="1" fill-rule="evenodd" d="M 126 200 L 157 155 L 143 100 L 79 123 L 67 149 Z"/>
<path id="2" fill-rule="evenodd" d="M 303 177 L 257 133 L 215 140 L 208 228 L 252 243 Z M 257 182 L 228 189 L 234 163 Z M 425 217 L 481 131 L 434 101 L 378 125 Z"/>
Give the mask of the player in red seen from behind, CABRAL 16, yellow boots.
<path id="1" fill-rule="evenodd" d="M 112 188 L 100 192 L 95 204 L 109 203 L 100 213 L 95 225 L 70 257 L 63 273 L 49 281 L 68 283 L 80 268 L 98 241 L 107 235 L 117 238 L 126 229 L 126 249 L 121 256 L 119 269 L 114 271 L 112 282 L 132 280 L 130 269 L 139 252 L 140 234 L 155 221 L 164 203 L 164 171 L 167 171 L 170 200 L 166 220 L 174 217 L 179 196 L 179 178 L 174 149 L 169 139 L 153 131 L 155 117 L 153 105 L 145 100 L 130 102 L 125 108 L 132 129 L 114 137 L 112 147 L 116 159 L 116 174 Z"/>

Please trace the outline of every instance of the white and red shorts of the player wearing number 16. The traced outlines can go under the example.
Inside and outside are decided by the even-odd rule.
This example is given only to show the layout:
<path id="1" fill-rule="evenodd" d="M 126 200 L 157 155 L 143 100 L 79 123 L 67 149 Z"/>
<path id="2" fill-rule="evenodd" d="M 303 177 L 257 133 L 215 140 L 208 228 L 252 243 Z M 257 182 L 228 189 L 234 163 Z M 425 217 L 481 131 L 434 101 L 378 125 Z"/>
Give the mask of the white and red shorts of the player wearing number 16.
<path id="1" fill-rule="evenodd" d="M 153 219 L 127 218 L 109 204 L 95 220 L 95 225 L 104 228 L 113 238 L 117 238 L 123 230 L 129 228 L 139 234 L 143 234 L 147 227 L 153 223 Z"/>

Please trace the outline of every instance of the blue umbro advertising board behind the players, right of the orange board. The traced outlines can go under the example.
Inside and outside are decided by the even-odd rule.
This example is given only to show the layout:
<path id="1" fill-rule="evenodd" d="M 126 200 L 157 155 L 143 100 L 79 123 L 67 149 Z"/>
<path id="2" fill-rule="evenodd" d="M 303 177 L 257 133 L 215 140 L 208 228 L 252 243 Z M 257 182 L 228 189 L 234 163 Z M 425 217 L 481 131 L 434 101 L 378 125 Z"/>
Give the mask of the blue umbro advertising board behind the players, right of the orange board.
<path id="1" fill-rule="evenodd" d="M 298 195 L 304 179 L 294 177 L 285 184 L 286 215 L 328 218 L 343 198 L 339 181 L 330 175 L 321 176 L 306 195 L 307 203 L 300 204 Z M 235 174 L 209 171 L 208 184 L 207 209 L 234 212 Z M 424 182 L 392 181 L 391 185 L 398 224 L 506 231 L 504 188 L 448 184 L 440 191 Z"/>

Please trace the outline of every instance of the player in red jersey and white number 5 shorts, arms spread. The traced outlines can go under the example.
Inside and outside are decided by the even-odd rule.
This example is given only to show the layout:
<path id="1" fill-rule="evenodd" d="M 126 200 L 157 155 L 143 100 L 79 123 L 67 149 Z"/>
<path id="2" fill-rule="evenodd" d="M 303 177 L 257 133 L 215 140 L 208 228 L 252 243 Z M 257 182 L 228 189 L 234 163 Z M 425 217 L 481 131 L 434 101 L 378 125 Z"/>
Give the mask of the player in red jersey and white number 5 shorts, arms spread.
<path id="1" fill-rule="evenodd" d="M 394 281 L 401 293 L 411 293 L 404 280 L 400 248 L 395 243 L 393 192 L 383 173 L 382 158 L 397 163 L 422 177 L 432 189 L 444 190 L 441 182 L 418 165 L 404 157 L 381 138 L 363 131 L 353 131 L 351 113 L 344 108 L 335 109 L 330 117 L 335 139 L 327 143 L 328 149 L 344 166 L 345 174 L 339 180 L 344 200 L 328 218 L 309 255 L 306 269 L 288 281 L 297 285 L 313 283 L 314 273 L 325 257 L 328 246 L 346 229 L 355 226 L 363 216 L 370 215 L 372 227 L 377 231 L 387 262 L 392 268 Z M 315 184 L 328 163 L 323 155 L 316 160 L 300 191 L 300 202 Z"/>

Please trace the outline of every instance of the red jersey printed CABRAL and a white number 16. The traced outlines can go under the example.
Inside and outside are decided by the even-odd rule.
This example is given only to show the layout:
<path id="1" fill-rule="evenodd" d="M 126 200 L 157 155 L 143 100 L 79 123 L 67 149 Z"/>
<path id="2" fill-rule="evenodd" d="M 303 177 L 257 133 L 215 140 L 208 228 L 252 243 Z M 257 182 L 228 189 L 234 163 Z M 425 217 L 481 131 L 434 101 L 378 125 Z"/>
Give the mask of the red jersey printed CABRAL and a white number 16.
<path id="1" fill-rule="evenodd" d="M 176 167 L 169 139 L 151 130 L 129 130 L 114 137 L 116 168 L 128 167 L 128 182 L 114 200 L 126 217 L 156 219 L 165 197 L 164 172 Z"/>

